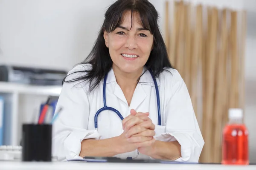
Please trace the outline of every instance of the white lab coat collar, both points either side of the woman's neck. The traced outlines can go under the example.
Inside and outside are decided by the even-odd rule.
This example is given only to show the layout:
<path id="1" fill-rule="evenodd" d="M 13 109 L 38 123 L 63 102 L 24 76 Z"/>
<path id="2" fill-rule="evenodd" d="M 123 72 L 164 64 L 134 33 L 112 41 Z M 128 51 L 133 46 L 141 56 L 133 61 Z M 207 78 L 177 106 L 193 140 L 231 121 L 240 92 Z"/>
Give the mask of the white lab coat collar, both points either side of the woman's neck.
<path id="1" fill-rule="evenodd" d="M 143 73 L 145 70 L 146 70 L 146 67 L 143 68 Z M 106 83 L 110 83 L 110 82 L 116 82 L 116 77 L 115 77 L 113 68 L 111 68 L 111 70 L 108 72 Z M 140 77 L 139 83 L 141 85 L 151 85 L 154 87 L 154 80 L 148 70 Z M 160 86 L 159 79 L 157 79 L 157 86 Z"/>

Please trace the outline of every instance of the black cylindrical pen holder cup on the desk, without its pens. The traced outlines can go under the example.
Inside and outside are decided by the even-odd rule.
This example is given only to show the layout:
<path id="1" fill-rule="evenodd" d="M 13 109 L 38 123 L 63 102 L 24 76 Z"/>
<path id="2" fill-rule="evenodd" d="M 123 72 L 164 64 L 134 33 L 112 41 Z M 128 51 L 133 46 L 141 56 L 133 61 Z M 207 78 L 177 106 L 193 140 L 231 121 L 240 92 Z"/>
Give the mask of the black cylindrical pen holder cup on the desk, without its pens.
<path id="1" fill-rule="evenodd" d="M 22 161 L 52 161 L 51 124 L 23 124 Z"/>

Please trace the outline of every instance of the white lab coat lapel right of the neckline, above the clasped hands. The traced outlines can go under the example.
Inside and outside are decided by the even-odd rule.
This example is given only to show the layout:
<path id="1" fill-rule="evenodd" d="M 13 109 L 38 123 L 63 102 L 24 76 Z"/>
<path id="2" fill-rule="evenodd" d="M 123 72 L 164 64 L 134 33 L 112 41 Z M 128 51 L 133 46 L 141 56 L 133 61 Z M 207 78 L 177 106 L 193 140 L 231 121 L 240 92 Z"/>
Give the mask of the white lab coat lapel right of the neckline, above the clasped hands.
<path id="1" fill-rule="evenodd" d="M 143 86 L 140 83 L 138 83 L 135 88 L 134 94 L 132 96 L 131 104 L 129 108 L 137 110 L 137 108 L 145 100 L 146 97 L 147 97 L 147 94 L 145 93 Z"/>

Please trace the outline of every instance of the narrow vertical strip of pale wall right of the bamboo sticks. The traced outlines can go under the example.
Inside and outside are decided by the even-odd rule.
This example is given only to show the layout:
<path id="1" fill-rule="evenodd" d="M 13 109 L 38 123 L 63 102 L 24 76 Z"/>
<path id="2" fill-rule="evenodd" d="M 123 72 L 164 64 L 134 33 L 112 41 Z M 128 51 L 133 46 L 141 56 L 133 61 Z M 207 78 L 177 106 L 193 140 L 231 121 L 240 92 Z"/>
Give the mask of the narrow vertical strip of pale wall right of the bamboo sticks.
<path id="1" fill-rule="evenodd" d="M 244 1 L 247 9 L 245 51 L 245 123 L 249 129 L 250 161 L 256 163 L 256 0 Z"/>

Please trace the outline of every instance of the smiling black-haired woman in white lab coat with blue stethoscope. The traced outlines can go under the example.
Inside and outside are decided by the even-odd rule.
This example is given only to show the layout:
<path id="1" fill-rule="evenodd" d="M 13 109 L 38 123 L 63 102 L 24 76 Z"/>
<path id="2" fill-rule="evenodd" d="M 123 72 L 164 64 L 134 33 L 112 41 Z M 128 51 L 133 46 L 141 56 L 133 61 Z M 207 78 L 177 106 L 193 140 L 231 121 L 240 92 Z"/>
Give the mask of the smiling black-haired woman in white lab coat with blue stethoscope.
<path id="1" fill-rule="evenodd" d="M 53 129 L 58 160 L 116 156 L 198 161 L 204 140 L 157 20 L 148 0 L 117 0 L 108 8 L 89 56 L 64 79 L 57 110 L 64 109 Z M 105 110 L 95 117 L 104 106 L 104 84 L 106 105 L 119 115 Z"/>

